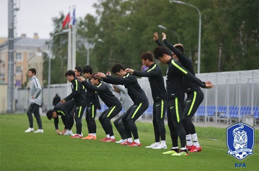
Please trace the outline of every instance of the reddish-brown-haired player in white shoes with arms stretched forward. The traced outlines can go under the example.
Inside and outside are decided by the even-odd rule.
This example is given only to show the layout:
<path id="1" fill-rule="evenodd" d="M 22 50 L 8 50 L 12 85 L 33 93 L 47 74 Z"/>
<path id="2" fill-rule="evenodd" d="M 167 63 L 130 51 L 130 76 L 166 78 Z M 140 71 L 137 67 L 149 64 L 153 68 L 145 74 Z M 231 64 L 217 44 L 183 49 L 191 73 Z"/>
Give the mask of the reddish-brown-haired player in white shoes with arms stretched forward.
<path id="1" fill-rule="evenodd" d="M 126 72 L 139 77 L 148 77 L 150 83 L 153 103 L 153 126 L 155 134 L 155 143 L 147 146 L 146 148 L 152 149 L 167 149 L 166 145 L 166 128 L 165 128 L 165 115 L 167 109 L 167 93 L 163 78 L 163 73 L 160 67 L 154 63 L 152 52 L 144 52 L 140 56 L 142 63 L 149 67 L 147 71 L 136 71 L 126 69 Z M 160 143 L 161 138 L 161 143 Z"/>

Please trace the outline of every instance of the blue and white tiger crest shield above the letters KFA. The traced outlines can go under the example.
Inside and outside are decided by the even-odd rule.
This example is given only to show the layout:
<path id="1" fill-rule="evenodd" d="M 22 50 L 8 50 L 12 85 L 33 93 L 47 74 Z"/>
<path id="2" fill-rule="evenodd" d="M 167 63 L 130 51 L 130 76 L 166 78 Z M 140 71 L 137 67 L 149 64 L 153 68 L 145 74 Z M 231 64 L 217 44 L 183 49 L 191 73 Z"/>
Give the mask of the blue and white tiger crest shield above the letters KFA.
<path id="1" fill-rule="evenodd" d="M 236 123 L 226 128 L 228 154 L 243 160 L 253 154 L 254 128 L 245 123 Z"/>

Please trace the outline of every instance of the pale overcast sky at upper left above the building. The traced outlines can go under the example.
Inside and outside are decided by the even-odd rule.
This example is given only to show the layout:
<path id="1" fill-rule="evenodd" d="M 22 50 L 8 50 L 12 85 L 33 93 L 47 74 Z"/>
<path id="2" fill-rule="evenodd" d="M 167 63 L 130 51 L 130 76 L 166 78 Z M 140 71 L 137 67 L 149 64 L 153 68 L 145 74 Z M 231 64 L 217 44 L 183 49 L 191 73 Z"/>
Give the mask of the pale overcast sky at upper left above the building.
<path id="1" fill-rule="evenodd" d="M 76 5 L 76 18 L 86 14 L 96 16 L 92 7 L 98 0 L 14 0 L 20 10 L 17 12 L 17 36 L 22 33 L 33 38 L 35 32 L 40 39 L 49 39 L 49 32 L 53 30 L 52 18 L 62 12 L 67 15 L 69 7 Z M 20 4 L 20 5 L 19 5 Z M 0 0 L 0 38 L 8 37 L 8 0 Z"/>

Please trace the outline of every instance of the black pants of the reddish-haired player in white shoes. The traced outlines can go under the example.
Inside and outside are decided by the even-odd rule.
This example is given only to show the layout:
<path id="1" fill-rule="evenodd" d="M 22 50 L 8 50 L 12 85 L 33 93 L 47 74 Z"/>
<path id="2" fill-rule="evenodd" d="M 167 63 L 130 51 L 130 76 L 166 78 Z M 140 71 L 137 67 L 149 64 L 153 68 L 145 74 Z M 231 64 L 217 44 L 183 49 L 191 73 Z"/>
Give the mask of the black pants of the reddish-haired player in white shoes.
<path id="1" fill-rule="evenodd" d="M 167 110 L 167 101 L 158 100 L 154 101 L 153 104 L 153 126 L 155 133 L 155 142 L 160 142 L 166 140 L 166 128 L 165 128 L 165 115 Z"/>

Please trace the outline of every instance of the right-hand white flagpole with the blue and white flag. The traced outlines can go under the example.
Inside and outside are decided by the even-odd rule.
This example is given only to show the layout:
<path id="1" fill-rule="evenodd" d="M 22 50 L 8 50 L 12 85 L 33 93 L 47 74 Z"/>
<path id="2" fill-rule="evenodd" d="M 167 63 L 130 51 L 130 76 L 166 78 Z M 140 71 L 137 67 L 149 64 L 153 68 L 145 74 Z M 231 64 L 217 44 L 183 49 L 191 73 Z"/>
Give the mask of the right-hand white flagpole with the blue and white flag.
<path id="1" fill-rule="evenodd" d="M 76 67 L 76 6 L 73 6 L 73 17 L 72 17 L 72 69 Z"/>

